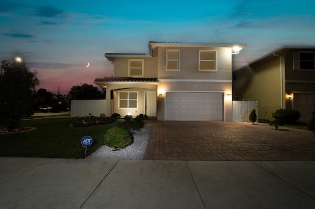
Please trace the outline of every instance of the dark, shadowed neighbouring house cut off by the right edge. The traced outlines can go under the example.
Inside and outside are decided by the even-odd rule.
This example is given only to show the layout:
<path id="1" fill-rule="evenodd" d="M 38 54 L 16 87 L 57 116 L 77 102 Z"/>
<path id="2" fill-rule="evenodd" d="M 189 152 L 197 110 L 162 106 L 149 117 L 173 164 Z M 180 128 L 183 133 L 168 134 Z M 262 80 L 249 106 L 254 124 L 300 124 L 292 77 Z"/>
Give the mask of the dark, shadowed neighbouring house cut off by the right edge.
<path id="1" fill-rule="evenodd" d="M 259 115 L 296 109 L 300 121 L 315 110 L 315 46 L 283 46 L 233 72 L 233 100 L 258 101 Z"/>

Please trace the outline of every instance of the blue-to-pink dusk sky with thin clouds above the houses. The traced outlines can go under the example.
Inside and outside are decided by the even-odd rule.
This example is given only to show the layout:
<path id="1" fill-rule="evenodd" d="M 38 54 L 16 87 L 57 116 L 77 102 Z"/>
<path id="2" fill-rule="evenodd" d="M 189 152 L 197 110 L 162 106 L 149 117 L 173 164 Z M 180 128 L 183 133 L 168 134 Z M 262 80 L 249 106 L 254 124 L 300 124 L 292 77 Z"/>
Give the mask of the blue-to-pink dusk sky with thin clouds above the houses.
<path id="1" fill-rule="evenodd" d="M 314 0 L 1 0 L 0 60 L 20 56 L 40 85 L 67 94 L 112 76 L 106 52 L 148 42 L 245 44 L 233 69 L 283 45 L 315 45 Z M 89 67 L 86 67 L 87 63 Z"/>

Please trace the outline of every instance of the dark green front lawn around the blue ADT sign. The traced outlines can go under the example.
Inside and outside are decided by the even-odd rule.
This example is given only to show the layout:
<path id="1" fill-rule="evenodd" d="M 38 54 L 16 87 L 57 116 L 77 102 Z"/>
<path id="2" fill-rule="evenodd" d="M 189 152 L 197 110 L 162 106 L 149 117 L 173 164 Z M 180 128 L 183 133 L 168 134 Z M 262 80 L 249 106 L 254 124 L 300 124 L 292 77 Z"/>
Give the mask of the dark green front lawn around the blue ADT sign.
<path id="1" fill-rule="evenodd" d="M 0 156 L 2 157 L 54 157 L 84 158 L 85 147 L 81 139 L 85 135 L 93 138 L 87 148 L 87 155 L 103 145 L 105 132 L 121 124 L 95 127 L 71 128 L 70 118 L 45 118 L 23 120 L 22 127 L 36 127 L 36 130 L 20 133 L 0 134 Z"/>

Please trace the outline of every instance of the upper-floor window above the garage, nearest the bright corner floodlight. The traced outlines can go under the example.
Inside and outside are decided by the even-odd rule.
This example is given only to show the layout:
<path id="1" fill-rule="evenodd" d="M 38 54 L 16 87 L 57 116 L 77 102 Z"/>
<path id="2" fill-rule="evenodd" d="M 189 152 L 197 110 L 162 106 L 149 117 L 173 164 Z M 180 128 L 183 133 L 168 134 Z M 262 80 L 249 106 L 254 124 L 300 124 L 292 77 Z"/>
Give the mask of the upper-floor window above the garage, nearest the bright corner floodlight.
<path id="1" fill-rule="evenodd" d="M 199 50 L 199 71 L 217 71 L 217 51 Z"/>

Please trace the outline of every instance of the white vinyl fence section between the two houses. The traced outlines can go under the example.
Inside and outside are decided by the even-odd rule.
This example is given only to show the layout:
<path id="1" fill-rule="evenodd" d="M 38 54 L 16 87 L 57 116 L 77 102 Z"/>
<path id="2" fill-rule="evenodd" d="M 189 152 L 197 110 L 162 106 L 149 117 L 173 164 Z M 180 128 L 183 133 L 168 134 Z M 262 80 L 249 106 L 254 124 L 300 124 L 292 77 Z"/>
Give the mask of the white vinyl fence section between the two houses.
<path id="1" fill-rule="evenodd" d="M 258 120 L 258 102 L 257 101 L 233 101 L 233 121 L 250 122 L 248 117 L 252 109 L 256 110 Z"/>

